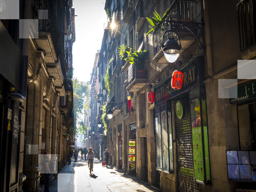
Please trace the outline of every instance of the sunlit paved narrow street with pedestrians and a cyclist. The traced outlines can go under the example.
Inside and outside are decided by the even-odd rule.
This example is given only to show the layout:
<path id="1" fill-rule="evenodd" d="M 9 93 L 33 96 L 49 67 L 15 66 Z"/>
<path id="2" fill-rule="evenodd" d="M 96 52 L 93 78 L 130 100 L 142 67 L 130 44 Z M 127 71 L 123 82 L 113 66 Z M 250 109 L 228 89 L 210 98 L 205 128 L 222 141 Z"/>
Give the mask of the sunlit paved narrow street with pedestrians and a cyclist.
<path id="1" fill-rule="evenodd" d="M 150 192 L 153 188 L 124 174 L 116 168 L 102 167 L 101 161 L 94 159 L 93 172 L 90 175 L 88 160 L 78 156 L 77 162 L 71 160 L 50 185 L 50 192 Z"/>

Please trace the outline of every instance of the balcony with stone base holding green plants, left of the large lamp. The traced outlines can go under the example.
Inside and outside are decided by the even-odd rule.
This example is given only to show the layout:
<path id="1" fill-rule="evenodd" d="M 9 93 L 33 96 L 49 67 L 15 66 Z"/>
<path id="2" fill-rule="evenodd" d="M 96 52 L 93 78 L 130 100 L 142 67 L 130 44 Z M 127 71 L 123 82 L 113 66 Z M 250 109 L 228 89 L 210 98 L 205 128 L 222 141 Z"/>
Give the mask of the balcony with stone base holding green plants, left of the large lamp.
<path id="1" fill-rule="evenodd" d="M 126 89 L 129 92 L 137 92 L 148 83 L 147 70 L 145 68 L 145 62 L 140 67 L 132 64 L 128 67 Z"/>

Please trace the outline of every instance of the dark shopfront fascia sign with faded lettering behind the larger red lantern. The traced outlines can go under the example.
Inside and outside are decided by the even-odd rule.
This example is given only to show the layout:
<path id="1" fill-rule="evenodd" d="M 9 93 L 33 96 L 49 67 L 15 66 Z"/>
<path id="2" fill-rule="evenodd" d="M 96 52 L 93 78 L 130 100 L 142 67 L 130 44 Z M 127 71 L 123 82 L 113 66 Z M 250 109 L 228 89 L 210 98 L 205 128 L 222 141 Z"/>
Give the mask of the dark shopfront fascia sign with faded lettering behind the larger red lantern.
<path id="1" fill-rule="evenodd" d="M 167 77 L 163 82 L 155 86 L 155 103 L 159 103 L 165 99 L 178 95 L 191 86 L 196 85 L 203 80 L 201 74 L 203 72 L 203 57 L 198 56 L 191 60 L 187 65 L 181 67 L 180 71 L 183 72 L 183 85 L 181 89 L 173 89 L 171 87 L 172 76 Z M 200 66 L 200 67 L 199 67 Z"/>

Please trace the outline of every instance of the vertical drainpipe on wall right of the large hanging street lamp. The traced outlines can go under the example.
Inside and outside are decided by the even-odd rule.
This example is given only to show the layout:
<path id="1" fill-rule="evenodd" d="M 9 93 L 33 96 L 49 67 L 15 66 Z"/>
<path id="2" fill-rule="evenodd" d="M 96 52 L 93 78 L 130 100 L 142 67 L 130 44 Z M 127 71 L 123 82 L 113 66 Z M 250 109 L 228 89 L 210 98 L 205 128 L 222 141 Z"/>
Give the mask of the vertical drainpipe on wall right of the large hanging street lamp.
<path id="1" fill-rule="evenodd" d="M 205 20 L 205 36 L 206 36 L 206 58 L 208 66 L 208 74 L 214 75 L 213 72 L 213 59 L 211 54 L 211 35 L 210 35 L 210 22 L 209 22 L 209 3 L 208 0 L 204 0 L 204 20 Z"/>

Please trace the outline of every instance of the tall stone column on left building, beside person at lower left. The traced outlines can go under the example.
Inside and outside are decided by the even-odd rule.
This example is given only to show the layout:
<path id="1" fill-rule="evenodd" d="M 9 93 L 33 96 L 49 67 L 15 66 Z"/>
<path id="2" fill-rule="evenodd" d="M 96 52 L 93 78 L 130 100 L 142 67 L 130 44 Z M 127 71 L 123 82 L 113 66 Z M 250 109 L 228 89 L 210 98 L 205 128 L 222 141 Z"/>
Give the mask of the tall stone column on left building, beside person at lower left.
<path id="1" fill-rule="evenodd" d="M 26 122 L 26 156 L 24 173 L 27 176 L 24 188 L 31 191 L 41 191 L 39 154 L 41 154 L 42 139 L 42 92 L 39 80 L 29 83 L 29 100 L 27 102 Z M 29 150 L 30 149 L 30 150 Z"/>

